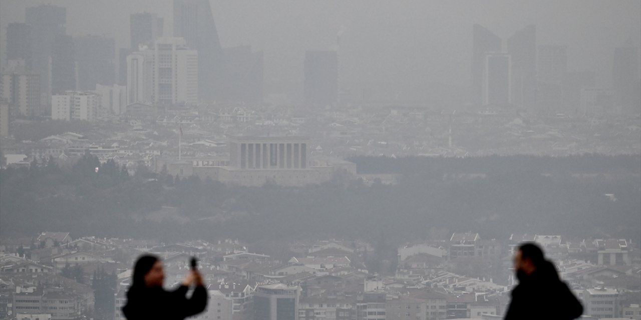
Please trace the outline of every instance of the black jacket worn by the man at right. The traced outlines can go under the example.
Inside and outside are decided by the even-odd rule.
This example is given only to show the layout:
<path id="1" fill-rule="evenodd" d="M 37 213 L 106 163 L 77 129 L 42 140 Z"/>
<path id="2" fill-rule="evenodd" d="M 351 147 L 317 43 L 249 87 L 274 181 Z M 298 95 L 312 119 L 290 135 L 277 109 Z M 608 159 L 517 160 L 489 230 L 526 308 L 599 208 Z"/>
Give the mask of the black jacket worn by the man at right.
<path id="1" fill-rule="evenodd" d="M 583 314 L 583 306 L 562 282 L 551 262 L 519 279 L 512 290 L 512 301 L 505 320 L 576 319 Z"/>

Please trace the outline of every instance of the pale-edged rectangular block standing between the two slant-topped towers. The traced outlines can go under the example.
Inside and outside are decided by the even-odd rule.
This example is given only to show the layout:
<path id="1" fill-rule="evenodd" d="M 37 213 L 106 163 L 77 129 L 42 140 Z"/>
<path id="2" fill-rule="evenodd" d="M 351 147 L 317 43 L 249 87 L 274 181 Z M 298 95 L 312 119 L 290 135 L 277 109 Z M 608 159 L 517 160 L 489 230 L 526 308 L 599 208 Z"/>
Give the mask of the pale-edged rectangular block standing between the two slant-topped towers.
<path id="1" fill-rule="evenodd" d="M 483 69 L 483 104 L 512 102 L 512 57 L 507 52 L 487 52 Z"/>

